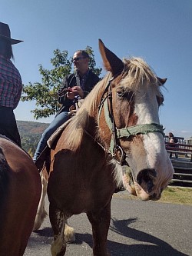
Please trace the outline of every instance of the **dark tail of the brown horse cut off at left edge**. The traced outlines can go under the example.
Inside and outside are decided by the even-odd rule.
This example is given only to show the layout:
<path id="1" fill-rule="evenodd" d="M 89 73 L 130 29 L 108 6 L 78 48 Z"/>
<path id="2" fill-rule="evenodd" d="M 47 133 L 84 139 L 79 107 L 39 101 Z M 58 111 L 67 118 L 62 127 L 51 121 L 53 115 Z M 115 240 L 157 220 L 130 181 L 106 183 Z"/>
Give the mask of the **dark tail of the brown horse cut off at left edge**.
<path id="1" fill-rule="evenodd" d="M 2 148 L 0 148 L 0 208 L 2 208 L 6 194 L 8 193 L 8 171 L 10 167 L 5 159 Z"/>

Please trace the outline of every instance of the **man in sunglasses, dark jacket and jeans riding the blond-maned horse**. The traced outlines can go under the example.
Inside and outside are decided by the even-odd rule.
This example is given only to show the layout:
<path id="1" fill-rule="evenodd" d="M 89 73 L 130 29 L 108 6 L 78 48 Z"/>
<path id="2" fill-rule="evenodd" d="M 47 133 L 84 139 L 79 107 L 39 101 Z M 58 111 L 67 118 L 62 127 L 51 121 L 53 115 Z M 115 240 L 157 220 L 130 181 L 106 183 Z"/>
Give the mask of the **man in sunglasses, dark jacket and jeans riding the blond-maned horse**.
<path id="1" fill-rule="evenodd" d="M 68 120 L 68 112 L 75 107 L 75 102 L 80 98 L 85 98 L 88 93 L 98 83 L 100 78 L 88 68 L 89 55 L 83 50 L 74 52 L 73 63 L 75 72 L 67 75 L 61 83 L 61 89 L 58 91 L 58 101 L 62 105 L 55 119 L 48 128 L 45 129 L 38 142 L 35 151 L 34 161 L 36 162 L 41 152 L 47 145 L 48 138 L 57 130 L 59 126 Z"/>

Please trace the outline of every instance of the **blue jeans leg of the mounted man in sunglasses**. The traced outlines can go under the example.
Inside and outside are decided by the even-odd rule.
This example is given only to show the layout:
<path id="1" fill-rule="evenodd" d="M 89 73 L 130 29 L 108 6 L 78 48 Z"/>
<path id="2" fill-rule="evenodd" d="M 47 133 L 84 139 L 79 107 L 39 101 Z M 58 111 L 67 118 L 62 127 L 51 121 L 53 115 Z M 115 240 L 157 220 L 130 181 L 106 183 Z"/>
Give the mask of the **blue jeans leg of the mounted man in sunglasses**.
<path id="1" fill-rule="evenodd" d="M 41 152 L 45 149 L 47 145 L 48 139 L 51 137 L 54 131 L 56 131 L 57 128 L 59 128 L 59 126 L 64 124 L 65 121 L 68 121 L 68 119 L 68 112 L 61 112 L 55 117 L 55 119 L 51 122 L 48 128 L 45 129 L 40 141 L 38 142 L 38 147 L 36 148 L 33 161 L 36 161 L 38 157 L 41 155 Z"/>

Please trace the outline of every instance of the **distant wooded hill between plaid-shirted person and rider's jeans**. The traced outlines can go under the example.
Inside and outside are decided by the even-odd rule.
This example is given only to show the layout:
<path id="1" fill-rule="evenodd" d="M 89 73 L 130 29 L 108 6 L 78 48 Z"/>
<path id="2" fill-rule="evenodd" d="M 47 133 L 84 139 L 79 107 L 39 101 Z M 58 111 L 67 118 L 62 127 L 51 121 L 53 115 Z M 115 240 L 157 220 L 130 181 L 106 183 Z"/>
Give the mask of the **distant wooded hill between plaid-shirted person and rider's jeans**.
<path id="1" fill-rule="evenodd" d="M 17 121 L 18 131 L 22 140 L 22 148 L 33 156 L 42 133 L 49 124 L 37 121 Z"/>

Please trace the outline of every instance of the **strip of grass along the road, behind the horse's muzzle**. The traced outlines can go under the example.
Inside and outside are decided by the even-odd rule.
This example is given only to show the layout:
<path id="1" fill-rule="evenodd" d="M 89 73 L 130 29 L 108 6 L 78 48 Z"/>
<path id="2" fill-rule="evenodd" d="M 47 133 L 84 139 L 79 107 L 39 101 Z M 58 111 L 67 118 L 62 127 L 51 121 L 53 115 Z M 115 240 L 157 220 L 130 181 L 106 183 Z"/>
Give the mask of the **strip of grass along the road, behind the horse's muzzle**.
<path id="1" fill-rule="evenodd" d="M 115 193 L 114 197 L 137 199 L 127 191 Z M 161 199 L 157 202 L 192 205 L 192 188 L 168 187 L 163 191 Z"/>

